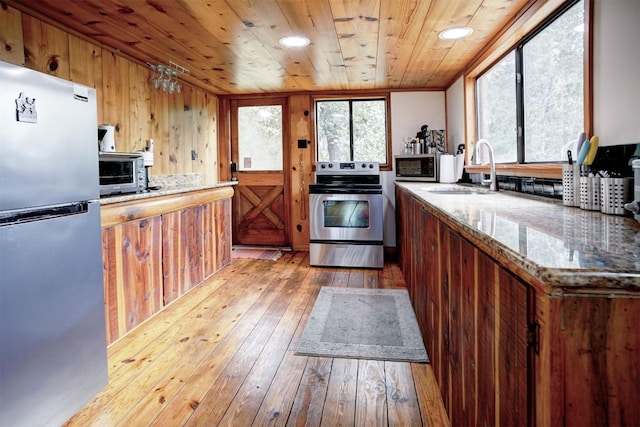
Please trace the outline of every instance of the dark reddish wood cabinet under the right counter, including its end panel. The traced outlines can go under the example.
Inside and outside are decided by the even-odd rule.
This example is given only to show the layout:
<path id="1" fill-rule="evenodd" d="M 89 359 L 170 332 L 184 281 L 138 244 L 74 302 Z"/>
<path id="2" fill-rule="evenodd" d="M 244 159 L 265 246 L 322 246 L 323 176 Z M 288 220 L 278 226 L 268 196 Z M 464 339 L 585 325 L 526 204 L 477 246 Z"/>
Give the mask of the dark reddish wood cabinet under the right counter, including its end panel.
<path id="1" fill-rule="evenodd" d="M 637 293 L 549 292 L 400 188 L 396 212 L 400 267 L 452 425 L 640 424 Z"/>

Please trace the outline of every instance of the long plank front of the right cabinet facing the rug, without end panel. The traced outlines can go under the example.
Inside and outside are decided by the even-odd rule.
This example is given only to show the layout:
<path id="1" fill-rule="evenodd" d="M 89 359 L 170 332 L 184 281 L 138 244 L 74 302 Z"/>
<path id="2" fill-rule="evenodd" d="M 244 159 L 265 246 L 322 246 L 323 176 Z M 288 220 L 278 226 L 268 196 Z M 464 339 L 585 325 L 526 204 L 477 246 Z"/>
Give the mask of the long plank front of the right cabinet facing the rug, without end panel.
<path id="1" fill-rule="evenodd" d="M 527 286 L 398 192 L 400 263 L 452 425 L 527 425 Z"/>

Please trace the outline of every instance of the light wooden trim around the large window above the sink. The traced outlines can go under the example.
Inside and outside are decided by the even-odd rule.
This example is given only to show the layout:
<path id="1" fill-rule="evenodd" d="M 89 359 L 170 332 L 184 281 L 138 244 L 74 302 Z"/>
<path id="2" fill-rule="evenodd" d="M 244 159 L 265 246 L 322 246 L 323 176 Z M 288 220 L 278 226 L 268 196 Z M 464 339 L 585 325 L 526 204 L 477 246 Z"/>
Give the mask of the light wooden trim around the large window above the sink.
<path id="1" fill-rule="evenodd" d="M 593 134 L 593 1 L 584 0 L 584 128 L 587 135 Z M 478 139 L 476 116 L 476 80 L 485 71 L 500 61 L 507 53 L 516 49 L 548 25 L 558 13 L 567 8 L 566 0 L 532 0 L 487 47 L 469 64 L 464 73 L 466 168 L 468 172 L 488 171 L 488 166 L 471 165 L 473 145 Z M 536 178 L 562 178 L 562 165 L 548 163 L 512 163 L 496 165 L 499 175 L 530 176 Z M 514 172 L 514 173 L 512 173 Z"/>

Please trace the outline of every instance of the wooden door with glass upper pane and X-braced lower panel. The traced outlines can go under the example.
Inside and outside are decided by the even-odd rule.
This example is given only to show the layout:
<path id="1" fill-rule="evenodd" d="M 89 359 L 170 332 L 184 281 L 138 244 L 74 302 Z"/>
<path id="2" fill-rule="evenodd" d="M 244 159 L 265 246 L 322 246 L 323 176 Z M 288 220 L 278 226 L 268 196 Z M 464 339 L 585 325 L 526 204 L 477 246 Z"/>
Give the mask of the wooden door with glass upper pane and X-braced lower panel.
<path id="1" fill-rule="evenodd" d="M 290 246 L 286 99 L 231 102 L 233 243 Z M 235 168 L 235 172 L 233 169 Z"/>

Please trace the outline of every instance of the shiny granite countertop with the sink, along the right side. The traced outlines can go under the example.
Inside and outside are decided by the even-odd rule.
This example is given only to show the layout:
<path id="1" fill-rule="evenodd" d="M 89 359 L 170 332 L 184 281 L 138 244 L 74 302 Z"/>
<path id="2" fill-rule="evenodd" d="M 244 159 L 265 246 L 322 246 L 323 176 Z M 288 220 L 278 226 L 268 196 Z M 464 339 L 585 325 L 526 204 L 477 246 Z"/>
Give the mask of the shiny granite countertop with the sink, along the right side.
<path id="1" fill-rule="evenodd" d="M 546 286 L 640 290 L 640 223 L 632 217 L 482 187 L 396 185 L 479 247 L 491 248 L 496 259 Z M 475 194 L 456 194 L 465 189 Z M 437 193 L 442 190 L 451 191 Z"/>

